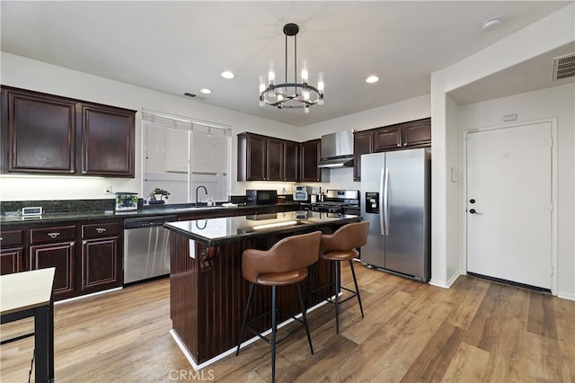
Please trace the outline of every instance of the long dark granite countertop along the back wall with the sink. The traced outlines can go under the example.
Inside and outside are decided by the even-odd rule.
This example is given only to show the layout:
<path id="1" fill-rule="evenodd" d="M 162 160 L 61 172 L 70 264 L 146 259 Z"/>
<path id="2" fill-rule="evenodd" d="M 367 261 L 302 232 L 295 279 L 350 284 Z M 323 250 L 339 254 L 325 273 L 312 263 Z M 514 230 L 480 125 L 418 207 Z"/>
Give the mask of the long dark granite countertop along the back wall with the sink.
<path id="1" fill-rule="evenodd" d="M 145 207 L 143 209 L 130 210 L 130 211 L 115 211 L 115 210 L 94 210 L 94 211 L 66 211 L 57 213 L 45 213 L 41 216 L 22 216 L 22 215 L 2 215 L 0 216 L 0 224 L 19 224 L 19 223 L 40 223 L 40 222 L 57 222 L 64 220 L 83 220 L 83 219 L 106 219 L 106 218 L 137 218 L 137 217 L 152 217 L 164 216 L 170 214 L 183 214 L 183 213 L 200 213 L 213 210 L 224 209 L 253 209 L 257 207 L 270 207 L 270 206 L 286 206 L 290 203 L 281 203 L 275 205 L 239 205 L 234 207 L 226 207 L 221 204 L 217 206 L 195 206 L 194 204 L 177 204 L 177 205 L 163 205 L 161 207 Z M 294 209 L 299 206 L 299 203 L 291 203 Z"/>

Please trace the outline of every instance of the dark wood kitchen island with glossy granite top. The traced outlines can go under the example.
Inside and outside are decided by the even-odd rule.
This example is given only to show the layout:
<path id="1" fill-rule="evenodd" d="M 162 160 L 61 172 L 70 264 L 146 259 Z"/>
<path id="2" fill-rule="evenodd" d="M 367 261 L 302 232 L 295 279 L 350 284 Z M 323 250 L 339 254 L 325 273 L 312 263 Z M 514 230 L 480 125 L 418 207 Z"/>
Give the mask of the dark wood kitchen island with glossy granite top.
<path id="1" fill-rule="evenodd" d="M 339 227 L 361 220 L 358 216 L 312 211 L 170 222 L 170 316 L 172 334 L 195 369 L 201 369 L 237 345 L 248 296 L 242 275 L 242 253 L 246 248 L 267 250 L 287 236 L 316 230 L 331 234 Z M 311 272 L 311 270 L 310 270 Z M 330 264 L 321 261 L 316 283 L 330 279 Z M 302 282 L 307 291 L 309 279 Z M 270 289 L 257 286 L 250 316 L 270 309 Z M 325 294 L 328 292 L 325 291 Z M 299 313 L 295 286 L 279 288 L 282 310 Z M 313 297 L 308 307 L 327 297 Z M 313 321 L 314 316 L 308 316 Z M 254 325 L 258 331 L 269 321 Z M 243 334 L 243 341 L 248 334 Z"/>

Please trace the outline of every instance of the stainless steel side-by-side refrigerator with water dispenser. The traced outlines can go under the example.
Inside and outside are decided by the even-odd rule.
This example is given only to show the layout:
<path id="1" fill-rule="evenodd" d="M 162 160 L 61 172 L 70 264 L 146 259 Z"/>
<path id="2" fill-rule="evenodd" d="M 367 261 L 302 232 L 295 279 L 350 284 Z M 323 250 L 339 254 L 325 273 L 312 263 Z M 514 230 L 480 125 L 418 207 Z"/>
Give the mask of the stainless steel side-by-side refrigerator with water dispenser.
<path id="1" fill-rule="evenodd" d="M 361 156 L 361 216 L 369 221 L 361 262 L 429 281 L 430 203 L 429 149 Z"/>

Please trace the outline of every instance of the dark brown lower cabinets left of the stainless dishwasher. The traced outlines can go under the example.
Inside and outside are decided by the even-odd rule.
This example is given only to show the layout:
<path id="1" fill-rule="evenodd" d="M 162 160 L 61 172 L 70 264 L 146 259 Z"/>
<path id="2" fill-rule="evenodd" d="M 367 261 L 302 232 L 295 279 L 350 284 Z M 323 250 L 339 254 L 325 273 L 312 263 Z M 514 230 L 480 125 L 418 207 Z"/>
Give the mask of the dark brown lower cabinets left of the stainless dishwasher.
<path id="1" fill-rule="evenodd" d="M 2 244 L 2 273 L 55 267 L 55 300 L 122 285 L 121 219 L 59 226 L 31 223 L 21 230 L 3 231 L 2 236 L 7 239 Z M 20 245 L 13 245 L 18 241 Z"/>

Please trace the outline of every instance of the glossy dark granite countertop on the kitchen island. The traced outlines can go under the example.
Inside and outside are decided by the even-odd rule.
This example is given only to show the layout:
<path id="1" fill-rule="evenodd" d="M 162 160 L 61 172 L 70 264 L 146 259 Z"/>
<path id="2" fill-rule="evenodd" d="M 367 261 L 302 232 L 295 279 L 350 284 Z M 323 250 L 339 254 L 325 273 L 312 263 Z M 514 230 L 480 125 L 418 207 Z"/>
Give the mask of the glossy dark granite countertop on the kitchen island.
<path id="1" fill-rule="evenodd" d="M 164 227 L 204 245 L 219 245 L 252 236 L 270 233 L 303 233 L 310 227 L 346 224 L 361 217 L 336 213 L 297 210 L 271 214 L 257 214 L 226 218 L 208 218 L 168 222 Z"/>

